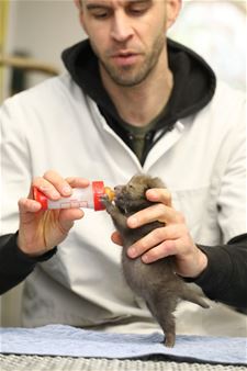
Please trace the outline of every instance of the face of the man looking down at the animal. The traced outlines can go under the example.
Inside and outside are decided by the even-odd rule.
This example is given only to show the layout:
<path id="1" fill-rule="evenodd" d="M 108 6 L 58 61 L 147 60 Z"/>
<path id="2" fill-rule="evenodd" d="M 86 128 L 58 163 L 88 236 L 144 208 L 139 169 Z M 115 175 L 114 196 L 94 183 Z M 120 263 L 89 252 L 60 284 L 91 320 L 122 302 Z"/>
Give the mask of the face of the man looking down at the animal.
<path id="1" fill-rule="evenodd" d="M 81 22 L 101 72 L 132 87 L 145 80 L 165 53 L 165 0 L 82 0 Z"/>

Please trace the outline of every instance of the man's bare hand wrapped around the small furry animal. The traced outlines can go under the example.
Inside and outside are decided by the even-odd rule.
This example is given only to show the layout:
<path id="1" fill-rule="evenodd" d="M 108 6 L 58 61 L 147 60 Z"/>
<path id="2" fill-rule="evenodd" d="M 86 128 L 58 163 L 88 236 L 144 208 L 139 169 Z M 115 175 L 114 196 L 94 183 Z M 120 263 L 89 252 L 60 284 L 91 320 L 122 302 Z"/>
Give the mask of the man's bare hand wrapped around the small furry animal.
<path id="1" fill-rule="evenodd" d="M 164 227 L 154 229 L 128 248 L 128 256 L 142 256 L 150 263 L 168 256 L 176 256 L 176 272 L 182 277 L 195 278 L 207 265 L 206 256 L 194 244 L 186 225 L 184 216 L 171 204 L 171 194 L 167 189 L 151 189 L 146 192 L 148 200 L 158 202 L 137 212 L 127 220 L 130 228 L 159 221 Z M 112 239 L 121 244 L 121 237 L 114 233 Z"/>

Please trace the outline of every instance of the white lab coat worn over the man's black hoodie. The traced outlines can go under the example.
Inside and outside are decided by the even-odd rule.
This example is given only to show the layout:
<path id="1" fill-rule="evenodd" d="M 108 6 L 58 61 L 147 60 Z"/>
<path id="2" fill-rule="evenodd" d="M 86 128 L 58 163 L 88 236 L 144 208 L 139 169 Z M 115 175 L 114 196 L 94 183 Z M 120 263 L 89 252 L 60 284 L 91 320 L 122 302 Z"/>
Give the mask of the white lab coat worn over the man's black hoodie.
<path id="1" fill-rule="evenodd" d="M 246 233 L 244 97 L 218 83 L 198 114 L 176 123 L 142 167 L 109 127 L 97 104 L 65 74 L 9 99 L 2 127 L 2 234 L 18 229 L 18 200 L 31 179 L 61 176 L 125 183 L 134 173 L 159 176 L 195 243 L 217 245 Z M 156 329 L 143 301 L 126 286 L 121 248 L 104 212 L 86 210 L 58 252 L 26 279 L 24 326 L 61 323 L 112 331 Z M 221 265 L 221 262 L 218 262 Z M 177 333 L 246 336 L 246 316 L 222 304 L 180 303 Z"/>

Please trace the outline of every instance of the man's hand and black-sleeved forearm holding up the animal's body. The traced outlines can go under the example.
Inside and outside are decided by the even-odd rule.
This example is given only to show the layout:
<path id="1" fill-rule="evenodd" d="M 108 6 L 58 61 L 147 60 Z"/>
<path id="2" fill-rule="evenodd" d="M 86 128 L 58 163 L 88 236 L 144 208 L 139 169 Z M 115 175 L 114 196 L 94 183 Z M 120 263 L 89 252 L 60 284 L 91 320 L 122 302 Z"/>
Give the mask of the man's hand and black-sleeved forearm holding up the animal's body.
<path id="1" fill-rule="evenodd" d="M 154 229 L 128 248 L 130 258 L 142 256 L 145 263 L 151 263 L 168 256 L 175 256 L 175 270 L 186 281 L 202 288 L 214 301 L 247 308 L 247 237 L 232 238 L 227 245 L 199 246 L 186 225 L 183 215 L 171 206 L 168 190 L 147 191 L 150 201 L 160 202 L 128 217 L 131 228 L 160 221 L 164 227 Z M 117 237 L 113 236 L 117 243 Z M 120 241 L 120 239 L 119 239 Z"/>

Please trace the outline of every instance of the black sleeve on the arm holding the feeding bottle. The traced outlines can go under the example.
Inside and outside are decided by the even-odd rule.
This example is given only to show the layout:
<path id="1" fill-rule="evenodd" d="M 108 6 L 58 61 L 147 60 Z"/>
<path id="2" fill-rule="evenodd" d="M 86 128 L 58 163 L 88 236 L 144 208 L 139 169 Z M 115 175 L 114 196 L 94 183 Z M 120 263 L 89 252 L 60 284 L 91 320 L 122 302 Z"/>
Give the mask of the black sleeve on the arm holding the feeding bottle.
<path id="1" fill-rule="evenodd" d="M 16 244 L 18 233 L 0 237 L 0 295 L 23 281 L 38 261 L 48 260 L 57 248 L 32 258 L 22 252 Z"/>

